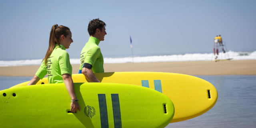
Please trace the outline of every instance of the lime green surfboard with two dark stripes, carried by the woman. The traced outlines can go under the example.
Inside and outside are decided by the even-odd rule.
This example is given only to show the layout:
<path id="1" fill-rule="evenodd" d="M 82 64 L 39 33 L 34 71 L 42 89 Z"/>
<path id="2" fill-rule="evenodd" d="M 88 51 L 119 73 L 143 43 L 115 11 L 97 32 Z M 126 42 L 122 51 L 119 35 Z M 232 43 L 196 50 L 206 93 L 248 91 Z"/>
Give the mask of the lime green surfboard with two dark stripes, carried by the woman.
<path id="1" fill-rule="evenodd" d="M 113 83 L 74 83 L 81 111 L 70 111 L 64 84 L 39 84 L 0 91 L 3 128 L 164 128 L 174 106 L 152 89 Z"/>

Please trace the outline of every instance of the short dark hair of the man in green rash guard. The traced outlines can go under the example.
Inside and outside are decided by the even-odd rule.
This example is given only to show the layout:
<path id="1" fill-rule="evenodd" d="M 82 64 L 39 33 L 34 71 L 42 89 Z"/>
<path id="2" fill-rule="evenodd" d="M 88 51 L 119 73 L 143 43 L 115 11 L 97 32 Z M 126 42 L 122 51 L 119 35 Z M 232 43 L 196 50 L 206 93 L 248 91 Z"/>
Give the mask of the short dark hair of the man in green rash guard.
<path id="1" fill-rule="evenodd" d="M 89 22 L 88 24 L 88 32 L 90 36 L 93 36 L 96 33 L 96 29 L 102 30 L 103 26 L 106 26 L 106 24 L 101 21 L 99 18 L 98 19 L 93 19 Z"/>

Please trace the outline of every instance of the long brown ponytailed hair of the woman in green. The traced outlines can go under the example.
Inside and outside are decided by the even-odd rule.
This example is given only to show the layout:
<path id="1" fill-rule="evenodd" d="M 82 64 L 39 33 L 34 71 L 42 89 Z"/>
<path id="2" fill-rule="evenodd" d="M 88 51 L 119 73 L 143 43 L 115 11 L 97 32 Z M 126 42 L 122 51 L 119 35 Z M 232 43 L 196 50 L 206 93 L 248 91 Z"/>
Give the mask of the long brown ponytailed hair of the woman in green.
<path id="1" fill-rule="evenodd" d="M 54 24 L 52 26 L 52 30 L 50 32 L 50 39 L 49 39 L 49 47 L 46 52 L 46 55 L 44 56 L 44 64 L 47 64 L 47 59 L 52 54 L 52 51 L 54 50 L 55 44 L 60 45 L 60 36 L 64 35 L 65 37 L 69 34 L 70 29 L 66 26 L 58 26 L 58 24 Z"/>

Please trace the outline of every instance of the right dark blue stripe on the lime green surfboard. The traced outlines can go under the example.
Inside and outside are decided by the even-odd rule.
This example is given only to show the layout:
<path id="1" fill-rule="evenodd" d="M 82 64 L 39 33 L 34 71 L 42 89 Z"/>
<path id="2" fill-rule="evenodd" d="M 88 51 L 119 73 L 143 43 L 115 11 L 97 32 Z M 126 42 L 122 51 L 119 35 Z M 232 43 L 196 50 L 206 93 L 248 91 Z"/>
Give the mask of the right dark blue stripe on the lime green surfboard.
<path id="1" fill-rule="evenodd" d="M 114 127 L 122 128 L 119 96 L 118 94 L 111 94 L 111 98 L 112 98 L 112 107 L 113 107 L 113 115 L 114 115 Z"/>

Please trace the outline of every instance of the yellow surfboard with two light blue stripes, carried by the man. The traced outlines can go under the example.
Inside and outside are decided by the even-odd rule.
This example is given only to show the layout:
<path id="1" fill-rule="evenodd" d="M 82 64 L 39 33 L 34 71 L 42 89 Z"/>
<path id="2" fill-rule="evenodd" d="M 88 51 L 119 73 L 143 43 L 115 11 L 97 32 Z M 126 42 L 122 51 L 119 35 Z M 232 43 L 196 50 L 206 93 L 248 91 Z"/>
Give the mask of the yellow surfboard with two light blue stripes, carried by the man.
<path id="1" fill-rule="evenodd" d="M 204 114 L 217 101 L 216 88 L 201 78 L 185 74 L 165 72 L 106 72 L 95 73 L 101 82 L 134 84 L 162 92 L 168 96 L 175 107 L 171 122 L 188 120 Z M 74 82 L 87 82 L 83 74 L 72 74 Z M 38 84 L 48 83 L 44 78 Z M 24 86 L 28 82 L 16 86 Z M 14 86 L 14 87 L 16 87 Z"/>

